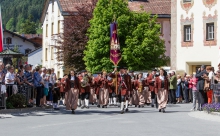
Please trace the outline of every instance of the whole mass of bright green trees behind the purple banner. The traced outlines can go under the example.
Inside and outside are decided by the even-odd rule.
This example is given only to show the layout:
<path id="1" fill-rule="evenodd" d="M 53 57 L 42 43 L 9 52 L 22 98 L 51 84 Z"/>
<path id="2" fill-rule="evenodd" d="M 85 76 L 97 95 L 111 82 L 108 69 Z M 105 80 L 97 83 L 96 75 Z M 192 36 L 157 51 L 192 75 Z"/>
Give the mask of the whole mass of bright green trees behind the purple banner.
<path id="1" fill-rule="evenodd" d="M 122 52 L 119 65 L 126 65 L 132 70 L 147 70 L 165 64 L 165 46 L 159 37 L 160 26 L 156 24 L 156 16 L 151 18 L 143 11 L 132 12 L 124 0 L 111 0 L 110 3 L 99 0 L 90 20 L 89 41 L 84 51 L 88 70 L 113 69 L 109 59 L 109 27 L 114 15 L 117 17 Z"/>

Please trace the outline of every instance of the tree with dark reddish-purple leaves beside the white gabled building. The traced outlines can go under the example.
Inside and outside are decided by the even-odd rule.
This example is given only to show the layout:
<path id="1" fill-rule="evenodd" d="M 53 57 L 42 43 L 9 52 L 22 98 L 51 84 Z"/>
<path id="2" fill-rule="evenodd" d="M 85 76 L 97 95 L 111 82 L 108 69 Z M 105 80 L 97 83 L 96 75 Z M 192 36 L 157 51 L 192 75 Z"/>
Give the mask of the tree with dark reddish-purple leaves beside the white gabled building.
<path id="1" fill-rule="evenodd" d="M 94 3 L 84 3 L 75 7 L 77 12 L 68 12 L 69 16 L 63 22 L 64 32 L 58 34 L 58 45 L 54 45 L 58 65 L 75 70 L 85 69 L 83 51 L 88 42 L 86 33 L 94 6 Z"/>

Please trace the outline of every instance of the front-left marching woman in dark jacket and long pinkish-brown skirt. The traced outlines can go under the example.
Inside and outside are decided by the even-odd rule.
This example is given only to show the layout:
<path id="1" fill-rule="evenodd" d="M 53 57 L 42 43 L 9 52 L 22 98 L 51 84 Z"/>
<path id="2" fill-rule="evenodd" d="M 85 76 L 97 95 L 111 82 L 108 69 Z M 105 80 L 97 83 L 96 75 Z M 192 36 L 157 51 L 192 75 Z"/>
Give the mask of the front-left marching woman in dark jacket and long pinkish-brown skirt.
<path id="1" fill-rule="evenodd" d="M 70 71 L 69 80 L 71 89 L 67 93 L 66 109 L 72 110 L 72 114 L 75 114 L 78 102 L 80 83 L 78 77 L 76 77 L 75 72 L 73 70 Z"/>

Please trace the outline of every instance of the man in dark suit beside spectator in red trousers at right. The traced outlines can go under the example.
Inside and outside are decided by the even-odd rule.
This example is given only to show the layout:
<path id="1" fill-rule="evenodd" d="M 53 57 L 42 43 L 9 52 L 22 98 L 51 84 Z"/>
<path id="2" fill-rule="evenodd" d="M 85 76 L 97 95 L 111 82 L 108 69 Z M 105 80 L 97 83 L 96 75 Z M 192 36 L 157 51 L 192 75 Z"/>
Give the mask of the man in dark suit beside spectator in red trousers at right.
<path id="1" fill-rule="evenodd" d="M 202 65 L 201 68 L 199 68 L 196 72 L 196 78 L 198 78 L 196 88 L 199 91 L 199 99 L 201 101 L 201 105 L 199 105 L 198 110 L 202 110 L 202 105 L 208 102 L 207 94 L 204 92 L 205 79 L 203 76 L 207 75 L 205 68 L 205 65 Z"/>

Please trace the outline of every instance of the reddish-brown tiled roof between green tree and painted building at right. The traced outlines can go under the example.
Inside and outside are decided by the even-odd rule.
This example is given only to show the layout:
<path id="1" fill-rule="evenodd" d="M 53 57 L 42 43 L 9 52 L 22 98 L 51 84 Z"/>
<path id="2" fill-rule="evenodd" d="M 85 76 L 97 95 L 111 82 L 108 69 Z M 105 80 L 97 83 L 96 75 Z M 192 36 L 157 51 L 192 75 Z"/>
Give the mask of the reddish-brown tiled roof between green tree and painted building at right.
<path id="1" fill-rule="evenodd" d="M 130 1 L 128 7 L 132 11 L 140 11 L 143 7 L 144 11 L 151 14 L 171 14 L 171 0 Z"/>

